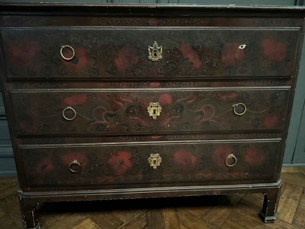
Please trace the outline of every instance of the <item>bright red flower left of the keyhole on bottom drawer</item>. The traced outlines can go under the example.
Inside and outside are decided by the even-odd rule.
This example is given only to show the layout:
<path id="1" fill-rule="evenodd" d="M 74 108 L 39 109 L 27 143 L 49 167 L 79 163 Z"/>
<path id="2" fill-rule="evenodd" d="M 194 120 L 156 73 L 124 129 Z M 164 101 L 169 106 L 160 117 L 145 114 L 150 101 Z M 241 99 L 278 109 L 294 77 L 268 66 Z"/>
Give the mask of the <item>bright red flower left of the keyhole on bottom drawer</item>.
<path id="1" fill-rule="evenodd" d="M 129 160 L 131 157 L 131 153 L 126 151 L 118 152 L 117 156 L 112 155 L 108 159 L 108 164 L 114 171 L 113 173 L 116 175 L 122 175 L 125 173 L 125 171 L 133 165 L 133 163 Z"/>

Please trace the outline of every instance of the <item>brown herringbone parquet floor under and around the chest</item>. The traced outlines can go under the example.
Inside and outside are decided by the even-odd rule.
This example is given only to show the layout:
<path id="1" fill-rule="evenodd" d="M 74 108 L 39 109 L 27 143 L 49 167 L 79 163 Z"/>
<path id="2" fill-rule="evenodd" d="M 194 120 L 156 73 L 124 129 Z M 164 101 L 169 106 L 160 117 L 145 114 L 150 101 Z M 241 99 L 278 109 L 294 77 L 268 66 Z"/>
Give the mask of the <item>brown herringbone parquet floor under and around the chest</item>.
<path id="1" fill-rule="evenodd" d="M 258 217 L 262 194 L 151 198 L 38 205 L 42 229 L 305 228 L 305 168 L 284 167 L 275 224 Z M 0 228 L 21 228 L 16 178 L 0 179 Z"/>

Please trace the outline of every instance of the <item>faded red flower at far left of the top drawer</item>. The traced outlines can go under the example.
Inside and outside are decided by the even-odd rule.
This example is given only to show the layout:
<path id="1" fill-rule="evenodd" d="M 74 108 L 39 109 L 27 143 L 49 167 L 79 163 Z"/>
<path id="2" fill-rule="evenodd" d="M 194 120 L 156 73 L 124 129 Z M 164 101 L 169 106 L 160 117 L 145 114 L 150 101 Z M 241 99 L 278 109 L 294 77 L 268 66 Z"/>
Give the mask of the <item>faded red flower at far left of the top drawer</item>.
<path id="1" fill-rule="evenodd" d="M 9 59 L 13 64 L 27 63 L 40 50 L 34 41 L 21 41 L 9 44 Z"/>

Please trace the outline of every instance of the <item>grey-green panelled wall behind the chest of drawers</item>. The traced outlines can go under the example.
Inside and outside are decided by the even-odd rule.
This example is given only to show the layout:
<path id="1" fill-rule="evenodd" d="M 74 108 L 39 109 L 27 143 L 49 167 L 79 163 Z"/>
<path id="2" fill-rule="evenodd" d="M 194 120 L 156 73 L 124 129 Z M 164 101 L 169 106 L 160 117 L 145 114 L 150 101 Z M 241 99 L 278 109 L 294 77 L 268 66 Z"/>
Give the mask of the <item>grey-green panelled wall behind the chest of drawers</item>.
<path id="1" fill-rule="evenodd" d="M 40 0 L 0 0 L 0 2 L 42 2 Z M 58 1 L 44 1 L 58 2 Z M 178 3 L 178 4 L 237 4 L 237 5 L 305 5 L 305 0 L 63 0 L 69 3 Z M 301 57 L 292 116 L 286 142 L 284 164 L 305 165 L 305 44 Z M 302 117 L 303 114 L 303 117 Z M 16 175 L 13 150 L 5 118 L 2 95 L 0 95 L 0 176 Z"/>

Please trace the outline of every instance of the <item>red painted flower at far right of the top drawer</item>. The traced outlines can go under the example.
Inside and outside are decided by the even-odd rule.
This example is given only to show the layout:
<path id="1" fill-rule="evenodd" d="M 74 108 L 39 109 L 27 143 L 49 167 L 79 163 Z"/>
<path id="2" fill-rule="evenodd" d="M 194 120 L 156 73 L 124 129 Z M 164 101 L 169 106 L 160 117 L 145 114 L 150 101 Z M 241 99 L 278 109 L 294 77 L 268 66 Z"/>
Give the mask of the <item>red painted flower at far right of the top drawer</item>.
<path id="1" fill-rule="evenodd" d="M 272 60 L 282 60 L 285 57 L 286 45 L 274 41 L 273 38 L 265 38 L 262 41 L 264 53 Z"/>

